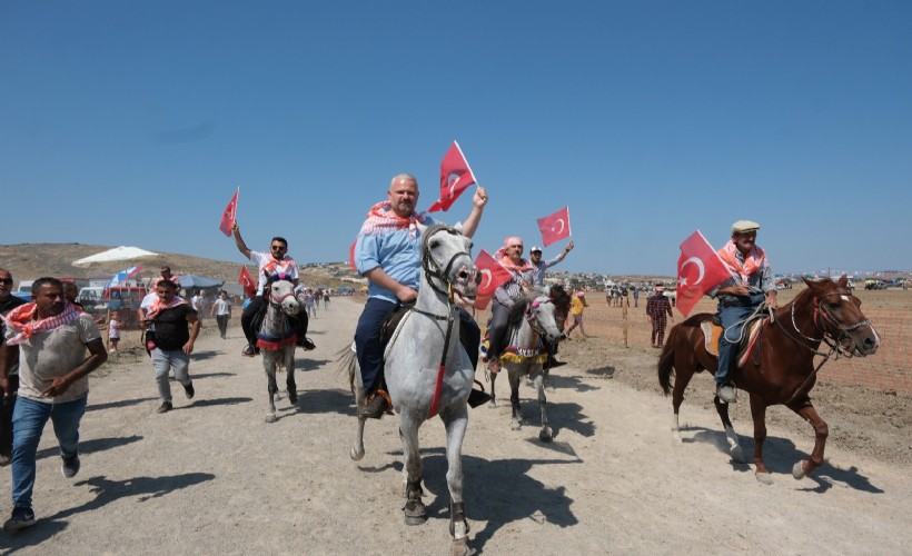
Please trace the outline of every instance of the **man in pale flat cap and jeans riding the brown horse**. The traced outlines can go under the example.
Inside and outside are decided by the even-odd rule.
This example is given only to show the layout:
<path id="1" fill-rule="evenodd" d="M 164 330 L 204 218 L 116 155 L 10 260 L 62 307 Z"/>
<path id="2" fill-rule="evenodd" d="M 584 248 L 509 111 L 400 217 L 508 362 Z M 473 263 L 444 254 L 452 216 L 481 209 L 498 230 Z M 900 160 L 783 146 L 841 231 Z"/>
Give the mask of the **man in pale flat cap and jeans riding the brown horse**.
<path id="1" fill-rule="evenodd" d="M 718 316 L 724 332 L 718 340 L 718 369 L 715 373 L 716 396 L 726 404 L 736 401 L 731 380 L 732 360 L 736 356 L 745 320 L 763 307 L 776 308 L 776 287 L 766 252 L 756 245 L 760 225 L 738 220 L 732 225 L 732 239 L 718 250 L 731 278 L 707 291 L 718 299 Z"/>

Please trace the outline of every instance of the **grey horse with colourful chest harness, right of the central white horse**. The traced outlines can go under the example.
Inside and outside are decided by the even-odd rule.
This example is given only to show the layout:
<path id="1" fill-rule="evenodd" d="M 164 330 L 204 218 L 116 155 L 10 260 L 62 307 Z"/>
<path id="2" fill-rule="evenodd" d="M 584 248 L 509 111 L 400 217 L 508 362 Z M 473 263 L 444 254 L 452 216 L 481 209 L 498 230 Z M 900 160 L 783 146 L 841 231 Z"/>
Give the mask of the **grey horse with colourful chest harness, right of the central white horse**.
<path id="1" fill-rule="evenodd" d="M 545 371 L 542 370 L 542 366 L 548 359 L 548 354 L 542 339 L 556 342 L 561 338 L 561 329 L 555 319 L 554 301 L 543 295 L 526 295 L 510 307 L 508 320 L 510 326 L 507 330 L 507 345 L 500 354 L 500 364 L 506 367 L 509 380 L 509 401 L 513 406 L 510 428 L 519 430 L 525 423 L 519 408 L 519 381 L 527 376 L 538 391 L 538 407 L 542 410 L 542 430 L 538 433 L 538 439 L 549 443 L 552 430 L 546 411 Z M 497 375 L 497 373 L 490 374 L 490 406 L 496 406 L 494 385 Z"/>

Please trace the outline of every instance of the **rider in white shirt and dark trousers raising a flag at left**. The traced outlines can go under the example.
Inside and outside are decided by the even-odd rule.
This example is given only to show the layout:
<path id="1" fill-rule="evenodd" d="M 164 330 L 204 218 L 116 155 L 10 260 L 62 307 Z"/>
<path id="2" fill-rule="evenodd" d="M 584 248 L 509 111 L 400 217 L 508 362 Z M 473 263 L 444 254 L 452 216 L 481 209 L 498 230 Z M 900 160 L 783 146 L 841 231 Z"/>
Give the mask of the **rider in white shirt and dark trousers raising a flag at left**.
<path id="1" fill-rule="evenodd" d="M 238 250 L 241 255 L 256 264 L 259 269 L 257 272 L 257 295 L 250 301 L 250 305 L 244 309 L 244 314 L 240 316 L 240 327 L 244 329 L 244 336 L 247 337 L 247 346 L 244 347 L 241 355 L 246 357 L 254 357 L 258 353 L 256 348 L 257 338 L 256 330 L 254 329 L 254 320 L 257 314 L 265 308 L 262 288 L 266 286 L 266 277 L 267 275 L 281 272 L 291 278 L 291 282 L 297 286 L 299 276 L 298 264 L 295 262 L 295 259 L 288 255 L 288 241 L 282 237 L 274 237 L 269 242 L 269 252 L 266 254 L 252 251 L 247 247 L 247 244 L 245 244 L 244 239 L 240 237 L 240 228 L 238 228 L 237 221 L 235 221 L 231 226 L 231 231 L 235 235 L 235 244 L 238 246 Z M 307 312 L 298 312 L 297 320 L 298 345 L 305 347 L 306 349 L 313 349 L 314 345 L 305 336 L 307 334 L 308 322 Z"/>

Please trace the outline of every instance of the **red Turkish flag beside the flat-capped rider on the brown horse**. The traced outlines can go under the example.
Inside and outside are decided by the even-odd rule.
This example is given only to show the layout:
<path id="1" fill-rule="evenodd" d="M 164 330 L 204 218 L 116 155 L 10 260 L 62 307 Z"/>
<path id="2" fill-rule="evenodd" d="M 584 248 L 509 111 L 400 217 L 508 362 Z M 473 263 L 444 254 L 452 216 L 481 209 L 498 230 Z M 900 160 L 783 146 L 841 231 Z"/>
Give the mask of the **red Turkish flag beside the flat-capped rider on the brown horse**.
<path id="1" fill-rule="evenodd" d="M 685 317 L 706 291 L 732 276 L 700 230 L 681 244 L 677 259 L 677 310 Z"/>

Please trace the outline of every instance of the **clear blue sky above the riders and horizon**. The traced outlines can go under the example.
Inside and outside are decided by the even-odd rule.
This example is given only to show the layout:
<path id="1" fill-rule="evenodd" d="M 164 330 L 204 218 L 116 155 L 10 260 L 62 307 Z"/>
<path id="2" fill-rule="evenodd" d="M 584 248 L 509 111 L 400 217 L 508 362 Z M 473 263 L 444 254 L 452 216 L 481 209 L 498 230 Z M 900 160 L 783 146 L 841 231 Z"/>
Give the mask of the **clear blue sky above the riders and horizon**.
<path id="1" fill-rule="evenodd" d="M 780 272 L 911 269 L 910 29 L 905 0 L 0 1 L 0 242 L 240 262 L 240 186 L 250 248 L 345 260 L 456 139 L 476 252 L 568 205 L 574 272 L 673 275 L 742 218 Z"/>

